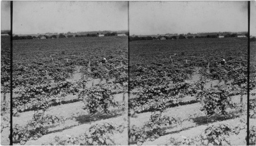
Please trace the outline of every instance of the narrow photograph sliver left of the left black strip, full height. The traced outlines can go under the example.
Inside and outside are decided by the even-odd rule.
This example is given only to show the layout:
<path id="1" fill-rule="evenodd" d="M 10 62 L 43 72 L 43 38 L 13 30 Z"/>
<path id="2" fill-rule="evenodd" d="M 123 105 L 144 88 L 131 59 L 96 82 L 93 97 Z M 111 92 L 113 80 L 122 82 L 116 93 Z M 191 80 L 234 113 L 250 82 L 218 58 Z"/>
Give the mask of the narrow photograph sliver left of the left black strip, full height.
<path id="1" fill-rule="evenodd" d="M 1 2 L 1 145 L 10 144 L 10 8 L 10 1 Z"/>

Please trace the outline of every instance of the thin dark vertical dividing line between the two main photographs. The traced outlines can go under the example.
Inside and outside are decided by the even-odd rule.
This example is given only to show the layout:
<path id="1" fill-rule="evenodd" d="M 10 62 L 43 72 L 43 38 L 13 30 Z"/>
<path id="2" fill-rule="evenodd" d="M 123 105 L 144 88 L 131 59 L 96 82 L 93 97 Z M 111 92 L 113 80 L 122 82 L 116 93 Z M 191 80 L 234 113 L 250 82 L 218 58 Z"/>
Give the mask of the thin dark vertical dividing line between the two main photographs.
<path id="1" fill-rule="evenodd" d="M 130 16 L 129 16 L 129 4 L 130 1 L 127 1 L 128 3 L 128 145 L 130 145 L 130 137 L 129 137 L 129 133 L 130 133 L 130 116 L 129 116 L 129 101 L 130 101 Z"/>

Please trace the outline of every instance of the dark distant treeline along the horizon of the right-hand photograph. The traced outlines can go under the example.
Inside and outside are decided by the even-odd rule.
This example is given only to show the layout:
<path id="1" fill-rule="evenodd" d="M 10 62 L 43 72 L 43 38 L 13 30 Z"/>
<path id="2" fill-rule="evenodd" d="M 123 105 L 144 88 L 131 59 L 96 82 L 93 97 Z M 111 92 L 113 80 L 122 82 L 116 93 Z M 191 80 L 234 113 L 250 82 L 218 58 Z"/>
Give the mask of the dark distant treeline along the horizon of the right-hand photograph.
<path id="1" fill-rule="evenodd" d="M 245 36 L 248 37 L 247 34 L 245 34 Z M 219 35 L 205 35 L 205 36 L 184 36 L 182 34 L 180 34 L 179 36 L 158 36 L 158 37 L 151 37 L 151 36 L 146 36 L 146 37 L 132 37 L 130 36 L 130 41 L 135 41 L 135 40 L 156 40 L 156 39 L 161 39 L 162 37 L 164 37 L 165 39 L 191 39 L 191 38 L 218 38 Z M 225 38 L 227 37 L 238 37 L 237 34 L 226 34 L 224 35 Z"/>

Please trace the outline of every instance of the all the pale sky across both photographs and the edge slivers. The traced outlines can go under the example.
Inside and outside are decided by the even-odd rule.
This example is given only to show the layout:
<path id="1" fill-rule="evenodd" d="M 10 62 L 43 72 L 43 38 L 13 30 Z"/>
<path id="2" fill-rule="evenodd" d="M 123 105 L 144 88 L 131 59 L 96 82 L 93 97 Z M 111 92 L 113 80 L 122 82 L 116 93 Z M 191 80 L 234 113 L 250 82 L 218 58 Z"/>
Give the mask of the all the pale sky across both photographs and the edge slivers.
<path id="1" fill-rule="evenodd" d="M 13 33 L 127 30 L 127 2 L 14 1 Z M 130 34 L 247 31 L 247 2 L 130 2 Z M 256 36 L 256 2 L 250 34 Z M 10 30 L 10 2 L 1 1 L 1 30 Z"/>

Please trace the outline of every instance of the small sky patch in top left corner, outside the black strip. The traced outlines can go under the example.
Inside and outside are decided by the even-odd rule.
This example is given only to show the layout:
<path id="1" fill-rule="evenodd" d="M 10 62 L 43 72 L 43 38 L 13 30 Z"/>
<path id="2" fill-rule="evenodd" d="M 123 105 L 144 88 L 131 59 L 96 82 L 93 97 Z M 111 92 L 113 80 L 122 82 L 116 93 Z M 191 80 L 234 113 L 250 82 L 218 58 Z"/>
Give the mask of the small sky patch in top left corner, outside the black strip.
<path id="1" fill-rule="evenodd" d="M 1 1 L 1 30 L 11 30 L 10 1 Z"/>

